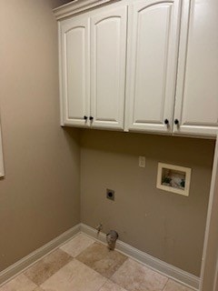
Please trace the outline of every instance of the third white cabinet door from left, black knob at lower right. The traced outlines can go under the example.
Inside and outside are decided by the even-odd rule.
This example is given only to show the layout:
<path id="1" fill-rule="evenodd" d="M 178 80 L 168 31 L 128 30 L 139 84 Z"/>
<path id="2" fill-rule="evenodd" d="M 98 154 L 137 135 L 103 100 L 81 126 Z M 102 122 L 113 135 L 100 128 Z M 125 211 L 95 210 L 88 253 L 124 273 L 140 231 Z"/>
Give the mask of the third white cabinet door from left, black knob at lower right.
<path id="1" fill-rule="evenodd" d="M 130 6 L 126 130 L 172 132 L 180 5 L 144 0 Z"/>

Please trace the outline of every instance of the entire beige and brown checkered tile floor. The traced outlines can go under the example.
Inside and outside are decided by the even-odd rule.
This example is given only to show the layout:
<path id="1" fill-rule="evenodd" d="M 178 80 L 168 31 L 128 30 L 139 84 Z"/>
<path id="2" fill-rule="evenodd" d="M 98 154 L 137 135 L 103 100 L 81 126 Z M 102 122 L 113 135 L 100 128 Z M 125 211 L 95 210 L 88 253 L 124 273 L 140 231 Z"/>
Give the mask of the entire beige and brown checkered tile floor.
<path id="1" fill-rule="evenodd" d="M 192 291 L 79 234 L 0 291 Z"/>

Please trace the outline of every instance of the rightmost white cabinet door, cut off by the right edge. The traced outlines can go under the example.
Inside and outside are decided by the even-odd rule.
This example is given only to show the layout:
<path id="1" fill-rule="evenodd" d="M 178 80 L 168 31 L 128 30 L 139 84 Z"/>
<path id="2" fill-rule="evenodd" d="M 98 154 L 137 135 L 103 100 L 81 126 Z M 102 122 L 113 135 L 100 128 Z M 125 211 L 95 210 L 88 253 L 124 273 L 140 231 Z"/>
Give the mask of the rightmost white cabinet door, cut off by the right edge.
<path id="1" fill-rule="evenodd" d="M 218 1 L 183 2 L 173 133 L 215 135 L 218 129 Z"/>

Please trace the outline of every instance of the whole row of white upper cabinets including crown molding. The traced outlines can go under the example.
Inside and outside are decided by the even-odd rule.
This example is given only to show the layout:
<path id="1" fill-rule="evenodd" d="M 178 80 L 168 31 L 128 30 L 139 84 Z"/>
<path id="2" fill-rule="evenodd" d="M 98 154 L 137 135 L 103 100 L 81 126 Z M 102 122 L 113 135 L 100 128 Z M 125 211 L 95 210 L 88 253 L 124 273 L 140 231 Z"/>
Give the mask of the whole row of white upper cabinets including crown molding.
<path id="1" fill-rule="evenodd" d="M 55 15 L 62 125 L 216 135 L 218 0 L 78 0 Z"/>

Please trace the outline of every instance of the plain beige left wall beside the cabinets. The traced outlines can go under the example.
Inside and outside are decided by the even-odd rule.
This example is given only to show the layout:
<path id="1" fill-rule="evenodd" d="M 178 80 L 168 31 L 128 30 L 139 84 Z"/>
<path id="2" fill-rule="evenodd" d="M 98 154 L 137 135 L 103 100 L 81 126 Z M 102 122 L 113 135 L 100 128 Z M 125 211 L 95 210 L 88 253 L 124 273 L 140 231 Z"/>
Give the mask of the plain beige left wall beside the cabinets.
<path id="1" fill-rule="evenodd" d="M 0 271 L 80 221 L 78 131 L 59 126 L 57 26 L 65 1 L 0 1 Z"/>

